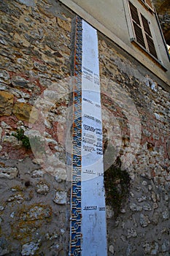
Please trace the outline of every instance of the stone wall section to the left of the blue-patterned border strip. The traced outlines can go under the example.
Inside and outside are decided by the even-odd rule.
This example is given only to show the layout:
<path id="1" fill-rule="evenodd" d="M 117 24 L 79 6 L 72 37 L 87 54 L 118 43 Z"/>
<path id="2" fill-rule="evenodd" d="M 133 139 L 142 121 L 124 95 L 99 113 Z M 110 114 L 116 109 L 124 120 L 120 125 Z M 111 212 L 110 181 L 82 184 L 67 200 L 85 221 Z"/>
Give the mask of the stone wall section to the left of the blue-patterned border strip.
<path id="1" fill-rule="evenodd" d="M 68 88 L 60 81 L 70 75 L 71 16 L 55 1 L 0 1 L 0 9 L 0 255 L 66 255 L 69 185 L 62 138 L 56 130 L 69 104 Z M 35 157 L 13 136 L 20 129 L 24 136 L 29 129 L 34 134 L 28 124 L 37 124 L 36 100 L 42 91 L 46 91 L 43 108 L 50 110 L 45 130 L 49 165 L 42 165 L 45 154 L 44 160 L 37 156 L 43 154 L 43 145 L 38 152 L 34 148 Z M 65 97 L 53 104 L 49 97 L 61 91 Z M 36 132 L 37 143 L 42 143 L 39 135 Z"/>

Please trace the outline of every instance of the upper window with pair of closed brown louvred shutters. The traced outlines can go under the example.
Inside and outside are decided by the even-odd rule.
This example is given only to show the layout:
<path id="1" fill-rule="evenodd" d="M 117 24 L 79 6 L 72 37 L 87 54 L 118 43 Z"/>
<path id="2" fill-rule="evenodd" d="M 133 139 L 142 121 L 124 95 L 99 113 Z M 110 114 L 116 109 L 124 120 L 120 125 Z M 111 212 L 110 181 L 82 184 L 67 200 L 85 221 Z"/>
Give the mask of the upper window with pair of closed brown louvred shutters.
<path id="1" fill-rule="evenodd" d="M 150 2 L 151 1 L 147 1 Z M 150 23 L 149 21 L 144 18 L 144 15 L 140 13 L 136 7 L 134 7 L 134 4 L 131 4 L 129 1 L 129 7 L 131 10 L 131 21 L 134 28 L 134 39 L 136 42 L 139 43 L 140 46 L 142 46 L 145 50 L 147 50 L 152 56 L 154 56 L 156 59 L 158 59 L 155 45 L 152 39 L 152 34 L 150 31 Z"/>

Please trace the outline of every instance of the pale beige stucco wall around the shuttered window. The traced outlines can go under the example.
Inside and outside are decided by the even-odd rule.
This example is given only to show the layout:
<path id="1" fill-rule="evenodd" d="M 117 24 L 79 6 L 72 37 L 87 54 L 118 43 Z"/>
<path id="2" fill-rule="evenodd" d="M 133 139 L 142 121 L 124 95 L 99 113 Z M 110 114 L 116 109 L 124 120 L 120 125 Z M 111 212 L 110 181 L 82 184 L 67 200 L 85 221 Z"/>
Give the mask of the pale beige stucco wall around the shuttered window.
<path id="1" fill-rule="evenodd" d="M 158 54 L 158 62 L 131 42 L 133 29 L 131 26 L 128 0 L 61 0 L 70 9 L 88 21 L 98 31 L 112 39 L 120 48 L 134 56 L 145 67 L 150 69 L 161 80 L 170 85 L 170 62 L 161 36 L 155 14 L 142 4 L 142 1 L 131 2 L 150 21 L 152 38 Z M 164 69 L 164 67 L 166 69 Z"/>

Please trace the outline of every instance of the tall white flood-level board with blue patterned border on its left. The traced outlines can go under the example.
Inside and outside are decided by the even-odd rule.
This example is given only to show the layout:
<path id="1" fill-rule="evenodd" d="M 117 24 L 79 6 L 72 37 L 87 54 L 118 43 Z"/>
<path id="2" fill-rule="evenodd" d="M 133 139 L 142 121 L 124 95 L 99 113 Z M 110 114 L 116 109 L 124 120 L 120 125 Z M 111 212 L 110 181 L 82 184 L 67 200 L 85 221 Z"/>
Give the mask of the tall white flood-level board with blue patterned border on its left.
<path id="1" fill-rule="evenodd" d="M 107 256 L 101 94 L 96 29 L 77 17 L 69 255 Z"/>

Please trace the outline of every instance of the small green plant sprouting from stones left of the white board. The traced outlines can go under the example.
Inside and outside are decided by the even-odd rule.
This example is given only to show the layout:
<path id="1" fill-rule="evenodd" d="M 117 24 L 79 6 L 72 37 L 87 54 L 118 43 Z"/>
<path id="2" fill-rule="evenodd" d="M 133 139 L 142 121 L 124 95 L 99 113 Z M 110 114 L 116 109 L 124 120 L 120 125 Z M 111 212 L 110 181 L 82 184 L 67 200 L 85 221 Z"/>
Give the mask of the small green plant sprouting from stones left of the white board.
<path id="1" fill-rule="evenodd" d="M 17 129 L 15 133 L 12 133 L 12 136 L 15 136 L 15 138 L 18 138 L 18 140 L 22 141 L 24 148 L 32 148 L 36 152 L 45 154 L 45 140 L 41 140 L 41 138 L 38 136 L 28 138 L 28 136 L 24 135 L 23 129 Z"/>

